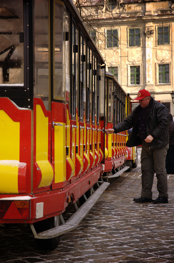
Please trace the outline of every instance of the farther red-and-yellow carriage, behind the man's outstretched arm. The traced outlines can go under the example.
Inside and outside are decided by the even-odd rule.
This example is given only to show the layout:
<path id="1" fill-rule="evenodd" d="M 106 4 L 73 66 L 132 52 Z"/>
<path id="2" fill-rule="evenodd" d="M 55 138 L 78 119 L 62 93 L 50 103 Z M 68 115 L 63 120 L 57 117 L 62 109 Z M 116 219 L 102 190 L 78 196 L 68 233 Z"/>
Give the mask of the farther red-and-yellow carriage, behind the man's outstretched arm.
<path id="1" fill-rule="evenodd" d="M 109 72 L 106 72 L 104 97 L 105 111 L 101 116 L 101 120 L 104 120 L 101 121 L 101 127 L 107 130 L 113 128 L 131 113 L 132 98 L 125 93 L 115 77 Z M 100 114 L 102 115 L 102 112 Z M 128 131 L 105 134 L 101 140 L 101 149 L 104 153 L 103 178 L 107 181 L 109 178 L 119 177 L 123 172 L 130 171 L 131 167 L 137 165 L 136 147 L 126 146 L 128 135 Z"/>

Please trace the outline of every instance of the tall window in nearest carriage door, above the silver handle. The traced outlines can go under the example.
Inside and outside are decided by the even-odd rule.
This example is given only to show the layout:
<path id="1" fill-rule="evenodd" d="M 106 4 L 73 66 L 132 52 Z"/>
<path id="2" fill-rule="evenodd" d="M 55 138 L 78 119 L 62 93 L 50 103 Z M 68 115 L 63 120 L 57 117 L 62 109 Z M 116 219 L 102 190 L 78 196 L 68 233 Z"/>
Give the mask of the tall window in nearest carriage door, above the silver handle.
<path id="1" fill-rule="evenodd" d="M 59 4 L 60 3 L 60 4 Z M 53 92 L 54 99 L 65 100 L 65 10 L 64 6 L 59 1 L 55 1 L 55 19 L 54 19 L 54 29 L 55 39 L 53 42 Z"/>

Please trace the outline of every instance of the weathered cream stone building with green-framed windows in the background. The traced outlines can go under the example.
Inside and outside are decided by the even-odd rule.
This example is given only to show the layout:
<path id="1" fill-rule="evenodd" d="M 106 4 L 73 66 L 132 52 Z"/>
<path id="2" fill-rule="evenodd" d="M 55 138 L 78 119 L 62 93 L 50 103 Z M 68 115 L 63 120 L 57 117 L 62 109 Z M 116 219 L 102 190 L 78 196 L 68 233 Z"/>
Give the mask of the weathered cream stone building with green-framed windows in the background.
<path id="1" fill-rule="evenodd" d="M 174 1 L 86 0 L 81 16 L 126 93 L 147 89 L 174 115 Z"/>

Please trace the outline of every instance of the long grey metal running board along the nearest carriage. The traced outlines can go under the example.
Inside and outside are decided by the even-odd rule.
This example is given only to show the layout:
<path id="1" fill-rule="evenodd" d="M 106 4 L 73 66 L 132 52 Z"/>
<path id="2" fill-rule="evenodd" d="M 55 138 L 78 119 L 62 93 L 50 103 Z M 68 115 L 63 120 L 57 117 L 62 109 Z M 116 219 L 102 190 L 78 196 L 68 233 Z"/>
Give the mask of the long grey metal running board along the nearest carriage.
<path id="1" fill-rule="evenodd" d="M 39 239 L 54 238 L 56 236 L 60 236 L 64 233 L 67 233 L 73 229 L 76 229 L 76 227 L 88 214 L 88 212 L 95 205 L 97 200 L 100 198 L 101 194 L 106 190 L 108 186 L 109 183 L 103 182 L 101 186 L 87 199 L 87 201 L 80 206 L 80 208 L 66 221 L 65 224 L 61 226 L 57 226 L 55 228 L 37 234 L 33 224 L 29 224 L 34 234 L 34 238 L 39 238 Z"/>

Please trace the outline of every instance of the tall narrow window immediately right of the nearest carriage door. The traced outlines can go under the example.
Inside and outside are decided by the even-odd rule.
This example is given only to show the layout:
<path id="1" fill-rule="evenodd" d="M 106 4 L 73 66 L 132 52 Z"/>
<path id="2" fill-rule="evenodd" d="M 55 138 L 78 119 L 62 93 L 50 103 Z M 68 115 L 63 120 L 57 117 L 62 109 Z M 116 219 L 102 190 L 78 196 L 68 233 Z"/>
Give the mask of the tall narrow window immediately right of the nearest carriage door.
<path id="1" fill-rule="evenodd" d="M 70 71 L 69 71 L 69 13 L 68 12 L 66 12 L 66 17 L 65 17 L 65 88 L 66 88 L 66 103 L 68 103 L 69 105 Z"/>

